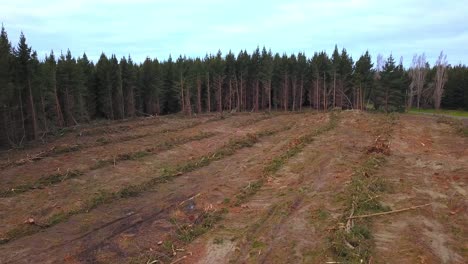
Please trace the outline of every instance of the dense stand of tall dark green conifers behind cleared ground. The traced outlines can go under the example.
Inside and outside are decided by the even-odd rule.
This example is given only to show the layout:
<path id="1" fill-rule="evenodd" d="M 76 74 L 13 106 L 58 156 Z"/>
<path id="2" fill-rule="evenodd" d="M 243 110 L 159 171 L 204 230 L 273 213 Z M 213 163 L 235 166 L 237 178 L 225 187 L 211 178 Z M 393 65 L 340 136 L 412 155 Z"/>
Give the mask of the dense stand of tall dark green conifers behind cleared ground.
<path id="1" fill-rule="evenodd" d="M 468 109 L 468 68 L 447 64 L 443 53 L 431 67 L 424 54 L 405 69 L 390 54 L 375 64 L 368 52 L 357 61 L 335 46 L 316 52 L 253 52 L 147 58 L 135 63 L 102 54 L 94 63 L 70 51 L 45 58 L 21 34 L 13 47 L 0 36 L 0 146 L 17 147 L 61 128 L 95 119 L 182 112 L 301 111 L 411 107 Z"/>

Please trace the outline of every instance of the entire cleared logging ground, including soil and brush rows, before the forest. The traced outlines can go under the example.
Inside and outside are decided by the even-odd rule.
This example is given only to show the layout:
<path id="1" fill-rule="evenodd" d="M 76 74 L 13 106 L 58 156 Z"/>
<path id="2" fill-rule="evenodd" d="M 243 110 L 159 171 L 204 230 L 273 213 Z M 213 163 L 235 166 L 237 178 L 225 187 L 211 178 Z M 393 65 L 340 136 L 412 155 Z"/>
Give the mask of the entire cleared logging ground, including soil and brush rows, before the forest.
<path id="1" fill-rule="evenodd" d="M 359 111 L 76 128 L 0 154 L 0 263 L 467 263 L 465 129 Z"/>

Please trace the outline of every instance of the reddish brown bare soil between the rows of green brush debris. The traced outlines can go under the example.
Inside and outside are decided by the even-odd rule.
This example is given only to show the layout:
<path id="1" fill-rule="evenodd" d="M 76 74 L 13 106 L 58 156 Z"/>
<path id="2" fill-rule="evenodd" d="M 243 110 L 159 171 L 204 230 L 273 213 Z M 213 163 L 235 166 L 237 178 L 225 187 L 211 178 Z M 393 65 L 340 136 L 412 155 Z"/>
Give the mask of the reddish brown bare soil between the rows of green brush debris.
<path id="1" fill-rule="evenodd" d="M 34 182 L 57 168 L 85 169 L 97 159 L 201 132 L 215 133 L 138 160 L 91 169 L 43 189 L 0 198 L 0 237 L 28 225 L 24 223 L 28 218 L 41 224 L 55 213 L 79 208 L 100 191 L 117 191 L 158 177 L 161 169 L 197 160 L 232 138 L 292 125 L 137 197 L 116 199 L 0 245 L 0 263 L 147 263 L 157 258 L 164 263 L 336 261 L 328 238 L 343 213 L 340 193 L 353 169 L 369 155 L 385 118 L 339 113 L 336 128 L 316 136 L 239 206 L 233 205 L 236 195 L 262 177 L 265 166 L 291 142 L 327 124 L 328 114 L 158 117 L 87 127 L 81 130 L 81 137 L 72 132 L 45 146 L 3 154 L 9 161 L 2 160 L 2 164 L 7 164 L 57 144 L 86 145 L 78 151 L 7 166 L 0 173 L 1 190 Z M 466 263 L 467 139 L 433 117 L 401 115 L 393 126 L 387 162 L 376 172 L 392 186 L 381 200 L 393 209 L 423 203 L 431 206 L 372 218 L 373 260 Z M 174 132 L 161 133 L 167 129 Z M 154 136 L 147 135 L 152 133 Z M 118 140 L 129 135 L 146 136 Z M 100 137 L 117 140 L 93 146 Z M 222 208 L 227 214 L 205 234 L 190 243 L 177 239 L 180 225 L 196 225 L 203 212 Z M 174 242 L 175 256 L 167 256 L 167 248 L 163 249 L 166 242 Z"/>

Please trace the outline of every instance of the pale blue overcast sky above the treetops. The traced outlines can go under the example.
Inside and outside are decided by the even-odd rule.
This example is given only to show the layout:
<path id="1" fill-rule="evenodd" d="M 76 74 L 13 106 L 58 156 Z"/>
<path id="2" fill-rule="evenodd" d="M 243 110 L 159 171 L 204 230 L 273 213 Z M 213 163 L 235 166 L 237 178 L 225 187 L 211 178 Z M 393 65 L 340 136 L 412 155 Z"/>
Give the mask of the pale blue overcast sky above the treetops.
<path id="1" fill-rule="evenodd" d="M 21 31 L 43 58 L 69 48 L 94 61 L 101 52 L 134 61 L 238 53 L 266 46 L 311 56 L 346 48 L 356 60 L 369 50 L 408 65 L 441 50 L 451 64 L 468 64 L 466 0 L 0 0 L 0 21 L 16 45 Z"/>

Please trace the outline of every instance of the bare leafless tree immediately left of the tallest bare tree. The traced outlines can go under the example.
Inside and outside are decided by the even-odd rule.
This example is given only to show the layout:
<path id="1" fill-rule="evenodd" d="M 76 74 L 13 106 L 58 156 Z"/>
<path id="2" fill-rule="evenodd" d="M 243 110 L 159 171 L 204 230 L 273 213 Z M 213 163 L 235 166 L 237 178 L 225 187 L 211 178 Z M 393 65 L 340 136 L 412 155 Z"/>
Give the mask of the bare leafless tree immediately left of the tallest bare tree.
<path id="1" fill-rule="evenodd" d="M 415 54 L 413 56 L 413 63 L 409 70 L 411 83 L 408 90 L 407 107 L 410 109 L 413 106 L 413 99 L 416 95 L 416 106 L 419 109 L 421 102 L 421 95 L 423 93 L 424 83 L 426 81 L 427 68 L 426 68 L 426 55 Z"/>

